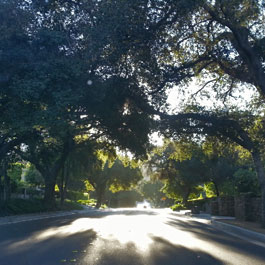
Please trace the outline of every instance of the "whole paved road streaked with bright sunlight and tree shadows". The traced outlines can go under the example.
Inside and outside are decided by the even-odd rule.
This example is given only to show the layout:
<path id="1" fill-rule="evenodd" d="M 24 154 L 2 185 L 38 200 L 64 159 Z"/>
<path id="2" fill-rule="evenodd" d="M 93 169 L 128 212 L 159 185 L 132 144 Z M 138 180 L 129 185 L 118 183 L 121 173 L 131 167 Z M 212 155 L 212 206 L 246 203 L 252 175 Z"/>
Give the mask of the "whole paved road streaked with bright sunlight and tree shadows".
<path id="1" fill-rule="evenodd" d="M 0 265 L 265 264 L 265 248 L 166 210 L 113 210 L 0 226 Z"/>

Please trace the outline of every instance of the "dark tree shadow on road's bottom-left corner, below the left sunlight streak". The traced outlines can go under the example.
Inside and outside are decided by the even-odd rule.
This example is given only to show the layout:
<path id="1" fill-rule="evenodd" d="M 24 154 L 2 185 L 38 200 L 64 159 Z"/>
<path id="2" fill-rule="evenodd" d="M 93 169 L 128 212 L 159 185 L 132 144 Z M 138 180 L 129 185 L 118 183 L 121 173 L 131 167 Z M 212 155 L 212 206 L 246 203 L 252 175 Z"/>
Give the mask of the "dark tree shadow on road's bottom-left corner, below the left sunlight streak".
<path id="1" fill-rule="evenodd" d="M 79 232 L 65 237 L 48 237 L 38 242 L 31 239 L 13 242 L 8 246 L 1 246 L 1 265 L 58 265 L 66 261 L 75 260 L 75 256 L 85 253 L 91 246 L 97 234 L 93 230 Z M 73 264 L 73 263 L 71 263 Z"/>

